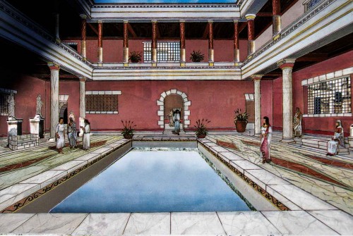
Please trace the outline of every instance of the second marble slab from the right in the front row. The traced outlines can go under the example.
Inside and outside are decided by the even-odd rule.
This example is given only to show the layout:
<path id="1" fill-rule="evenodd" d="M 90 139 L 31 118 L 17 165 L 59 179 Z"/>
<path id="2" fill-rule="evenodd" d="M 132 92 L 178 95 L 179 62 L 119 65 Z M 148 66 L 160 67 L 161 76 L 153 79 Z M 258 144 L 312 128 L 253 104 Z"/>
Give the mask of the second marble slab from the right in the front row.
<path id="1" fill-rule="evenodd" d="M 284 235 L 337 235 L 305 211 L 261 211 Z"/>

